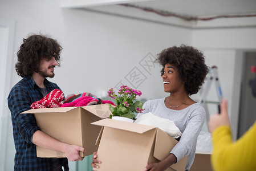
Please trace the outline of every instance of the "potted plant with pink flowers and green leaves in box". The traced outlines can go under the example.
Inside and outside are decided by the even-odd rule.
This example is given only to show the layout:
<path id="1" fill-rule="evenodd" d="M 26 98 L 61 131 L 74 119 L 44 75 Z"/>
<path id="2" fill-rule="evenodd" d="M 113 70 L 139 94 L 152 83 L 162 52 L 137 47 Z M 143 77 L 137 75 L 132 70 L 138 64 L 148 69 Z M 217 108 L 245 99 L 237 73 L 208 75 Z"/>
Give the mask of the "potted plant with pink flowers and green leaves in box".
<path id="1" fill-rule="evenodd" d="M 109 110 L 112 115 L 109 118 L 114 116 L 126 117 L 129 119 L 136 120 L 135 113 L 141 113 L 144 111 L 143 103 L 141 101 L 133 101 L 136 99 L 136 96 L 141 95 L 141 91 L 132 89 L 128 86 L 121 86 L 118 92 L 119 96 L 113 91 L 113 88 L 108 90 L 108 96 L 116 100 L 116 107 L 109 104 Z"/>

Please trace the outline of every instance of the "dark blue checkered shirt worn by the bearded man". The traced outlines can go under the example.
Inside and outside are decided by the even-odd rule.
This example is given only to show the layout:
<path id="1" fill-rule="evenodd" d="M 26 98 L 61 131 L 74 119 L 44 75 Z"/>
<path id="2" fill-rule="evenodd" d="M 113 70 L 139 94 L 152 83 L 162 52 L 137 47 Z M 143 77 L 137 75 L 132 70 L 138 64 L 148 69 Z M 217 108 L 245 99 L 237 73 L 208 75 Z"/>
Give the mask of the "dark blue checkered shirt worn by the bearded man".
<path id="1" fill-rule="evenodd" d="M 44 79 L 47 92 L 60 89 L 57 84 Z M 32 144 L 32 135 L 39 130 L 33 114 L 20 114 L 30 109 L 30 105 L 41 100 L 43 95 L 31 76 L 19 81 L 10 91 L 8 107 L 13 123 L 13 137 L 16 149 L 14 170 L 52 170 L 51 158 L 36 157 L 36 145 Z M 67 158 L 60 158 L 64 170 L 69 170 Z"/>

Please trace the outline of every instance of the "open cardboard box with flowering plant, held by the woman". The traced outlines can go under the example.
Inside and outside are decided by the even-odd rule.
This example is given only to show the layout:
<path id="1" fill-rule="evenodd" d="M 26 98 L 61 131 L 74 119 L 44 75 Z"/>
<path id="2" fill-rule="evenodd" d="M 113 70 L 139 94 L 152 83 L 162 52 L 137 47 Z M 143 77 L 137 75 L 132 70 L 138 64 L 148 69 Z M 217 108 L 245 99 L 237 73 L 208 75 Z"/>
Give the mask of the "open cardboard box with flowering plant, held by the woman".
<path id="1" fill-rule="evenodd" d="M 95 170 L 141 171 L 151 162 L 168 156 L 178 143 L 173 137 L 156 127 L 103 119 L 92 123 L 103 126 L 96 144 L 97 159 L 102 163 Z M 167 170 L 185 170 L 186 157 Z"/>

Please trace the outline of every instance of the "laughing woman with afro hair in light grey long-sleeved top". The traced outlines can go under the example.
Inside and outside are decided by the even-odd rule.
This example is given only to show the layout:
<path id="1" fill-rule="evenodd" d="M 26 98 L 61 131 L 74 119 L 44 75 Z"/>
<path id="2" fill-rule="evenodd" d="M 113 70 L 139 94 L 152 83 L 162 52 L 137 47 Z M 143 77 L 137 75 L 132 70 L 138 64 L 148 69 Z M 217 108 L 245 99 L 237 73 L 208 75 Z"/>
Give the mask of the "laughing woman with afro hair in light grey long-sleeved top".
<path id="1" fill-rule="evenodd" d="M 196 153 L 197 137 L 205 121 L 205 109 L 189 96 L 198 92 L 209 70 L 202 52 L 184 44 L 161 51 L 157 61 L 162 66 L 164 91 L 170 95 L 146 101 L 144 113 L 151 112 L 174 121 L 182 135 L 164 160 L 148 164 L 145 170 L 166 170 L 185 156 L 188 156 L 185 170 L 189 170 Z"/>

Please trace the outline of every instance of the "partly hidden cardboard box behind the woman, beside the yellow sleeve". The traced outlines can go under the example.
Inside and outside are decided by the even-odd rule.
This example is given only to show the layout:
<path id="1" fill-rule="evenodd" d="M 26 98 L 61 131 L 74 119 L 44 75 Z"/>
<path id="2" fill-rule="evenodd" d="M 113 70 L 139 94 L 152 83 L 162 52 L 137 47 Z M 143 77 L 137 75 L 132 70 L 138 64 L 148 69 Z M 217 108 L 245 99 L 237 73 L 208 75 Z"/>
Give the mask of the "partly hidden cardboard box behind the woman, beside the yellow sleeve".
<path id="1" fill-rule="evenodd" d="M 211 152 L 196 152 L 193 165 L 190 168 L 190 171 L 213 171 L 210 155 Z"/>

